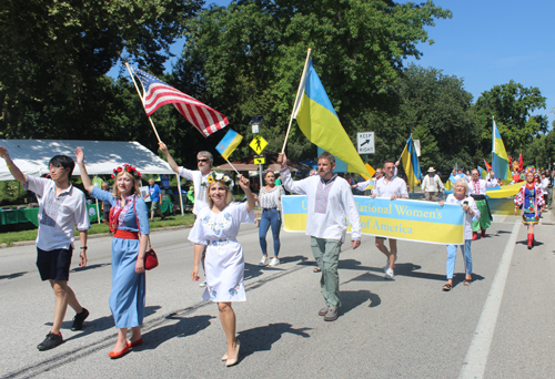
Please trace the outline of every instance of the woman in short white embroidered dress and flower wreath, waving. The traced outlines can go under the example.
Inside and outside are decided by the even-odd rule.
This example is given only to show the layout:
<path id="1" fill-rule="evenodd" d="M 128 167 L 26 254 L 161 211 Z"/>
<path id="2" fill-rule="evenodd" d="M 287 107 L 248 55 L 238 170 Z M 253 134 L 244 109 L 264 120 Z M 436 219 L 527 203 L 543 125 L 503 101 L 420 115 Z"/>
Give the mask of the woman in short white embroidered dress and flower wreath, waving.
<path id="1" fill-rule="evenodd" d="M 222 360 L 226 361 L 225 366 L 233 366 L 239 361 L 239 340 L 231 303 L 246 300 L 243 286 L 244 256 L 236 236 L 241 223 L 254 222 L 254 196 L 249 180 L 242 175 L 239 176 L 239 185 L 246 195 L 246 203 L 233 203 L 233 181 L 228 176 L 212 172 L 208 182 L 209 206 L 199 212 L 189 234 L 189 240 L 194 243 L 194 267 L 191 275 L 193 280 L 200 280 L 199 264 L 202 250 L 208 245 L 204 262 L 206 288 L 202 299 L 218 303 L 220 320 L 228 338 L 228 351 Z"/>

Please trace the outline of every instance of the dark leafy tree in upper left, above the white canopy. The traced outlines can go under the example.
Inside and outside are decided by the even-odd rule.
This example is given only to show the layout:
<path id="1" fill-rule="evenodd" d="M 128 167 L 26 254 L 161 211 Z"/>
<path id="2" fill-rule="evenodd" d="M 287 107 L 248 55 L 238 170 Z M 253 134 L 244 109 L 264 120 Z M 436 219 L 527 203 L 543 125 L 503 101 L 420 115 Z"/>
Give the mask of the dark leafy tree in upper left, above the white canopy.
<path id="1" fill-rule="evenodd" d="M 72 134 L 75 129 L 98 127 L 114 101 L 104 74 L 119 59 L 161 74 L 170 44 L 202 4 L 202 0 L 1 1 L 2 137 L 78 137 L 79 133 Z"/>

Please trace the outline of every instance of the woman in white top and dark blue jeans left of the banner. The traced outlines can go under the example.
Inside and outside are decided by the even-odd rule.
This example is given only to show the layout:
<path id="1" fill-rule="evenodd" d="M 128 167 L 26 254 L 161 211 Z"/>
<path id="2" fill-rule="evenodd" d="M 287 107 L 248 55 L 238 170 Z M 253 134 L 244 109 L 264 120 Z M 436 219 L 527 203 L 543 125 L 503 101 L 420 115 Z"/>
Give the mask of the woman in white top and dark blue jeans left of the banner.
<path id="1" fill-rule="evenodd" d="M 262 260 L 259 266 L 278 266 L 280 264 L 280 229 L 281 229 L 281 196 L 285 194 L 281 185 L 275 185 L 275 175 L 271 171 L 264 173 L 266 185 L 260 188 L 259 196 L 254 195 L 254 199 L 262 208 L 262 217 L 259 225 L 259 239 L 262 249 Z M 268 258 L 266 234 L 272 227 L 272 237 L 274 240 L 274 257 Z"/>

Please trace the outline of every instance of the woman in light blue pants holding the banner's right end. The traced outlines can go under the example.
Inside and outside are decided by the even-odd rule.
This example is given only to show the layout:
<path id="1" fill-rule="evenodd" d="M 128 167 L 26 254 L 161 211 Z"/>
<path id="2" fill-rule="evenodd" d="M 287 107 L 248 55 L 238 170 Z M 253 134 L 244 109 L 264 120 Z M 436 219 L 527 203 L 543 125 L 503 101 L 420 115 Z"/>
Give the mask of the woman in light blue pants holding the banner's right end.
<path id="1" fill-rule="evenodd" d="M 464 212 L 464 245 L 461 246 L 461 252 L 464 258 L 464 281 L 465 286 L 472 283 L 472 222 L 480 219 L 480 211 L 472 196 L 468 196 L 468 185 L 464 178 L 458 178 L 453 187 L 453 193 L 447 196 L 446 204 L 458 204 Z M 444 202 L 440 202 L 443 206 Z M 455 270 L 457 245 L 447 245 L 447 283 L 443 286 L 443 290 L 450 291 L 453 288 L 453 272 Z"/>

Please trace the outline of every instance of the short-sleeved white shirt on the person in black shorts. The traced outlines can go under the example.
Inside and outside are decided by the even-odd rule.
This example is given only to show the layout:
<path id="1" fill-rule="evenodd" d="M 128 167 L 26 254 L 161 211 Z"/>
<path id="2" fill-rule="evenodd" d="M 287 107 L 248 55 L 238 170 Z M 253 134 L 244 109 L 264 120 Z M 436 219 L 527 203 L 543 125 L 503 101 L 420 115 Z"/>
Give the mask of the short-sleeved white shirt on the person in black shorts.
<path id="1" fill-rule="evenodd" d="M 26 190 L 41 198 L 37 247 L 47 252 L 73 247 L 75 226 L 80 232 L 91 227 L 84 194 L 70 184 L 68 190 L 56 196 L 54 181 L 31 175 L 26 175 Z"/>

